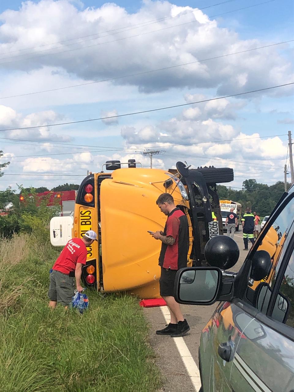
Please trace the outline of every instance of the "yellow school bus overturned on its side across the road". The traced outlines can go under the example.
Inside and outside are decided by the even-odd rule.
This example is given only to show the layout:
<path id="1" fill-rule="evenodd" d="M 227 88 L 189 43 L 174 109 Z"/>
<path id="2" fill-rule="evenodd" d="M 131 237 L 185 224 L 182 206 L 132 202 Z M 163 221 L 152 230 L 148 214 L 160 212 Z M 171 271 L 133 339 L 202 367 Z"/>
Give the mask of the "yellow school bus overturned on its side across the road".
<path id="1" fill-rule="evenodd" d="M 104 292 L 126 291 L 144 299 L 158 298 L 161 242 L 147 232 L 165 226 L 166 216 L 156 205 L 158 196 L 172 194 L 186 214 L 190 236 L 187 264 L 201 265 L 207 241 L 222 234 L 216 181 L 232 181 L 233 171 L 189 169 L 182 162 L 176 164 L 177 169 L 167 171 L 144 169 L 134 160 L 126 164 L 123 168 L 119 161 L 108 161 L 101 172 L 82 181 L 73 220 L 64 217 L 65 222 L 56 217 L 51 221 L 51 243 L 65 245 L 71 236 L 96 231 L 98 242 L 87 248 L 87 263 L 82 269 L 84 283 Z M 218 221 L 212 219 L 212 212 Z"/>

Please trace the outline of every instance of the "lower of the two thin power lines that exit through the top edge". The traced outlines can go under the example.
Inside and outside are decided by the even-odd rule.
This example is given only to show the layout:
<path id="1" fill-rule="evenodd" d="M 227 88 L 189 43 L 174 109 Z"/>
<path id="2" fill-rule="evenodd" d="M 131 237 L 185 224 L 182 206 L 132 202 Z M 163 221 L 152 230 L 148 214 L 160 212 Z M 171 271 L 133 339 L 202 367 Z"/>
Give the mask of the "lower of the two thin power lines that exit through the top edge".
<path id="1" fill-rule="evenodd" d="M 256 7 L 257 5 L 262 5 L 262 4 L 271 3 L 271 2 L 273 2 L 273 1 L 276 1 L 276 0 L 268 0 L 268 1 L 266 1 L 266 2 L 262 2 L 262 3 L 258 3 L 258 4 L 254 4 L 254 5 L 249 5 L 249 6 L 247 6 L 247 7 L 234 9 L 234 10 L 232 10 L 232 11 L 227 11 L 227 12 L 224 12 L 224 13 L 221 13 L 221 14 L 218 14 L 218 15 L 212 15 L 212 16 L 208 16 L 208 17 L 209 17 L 209 18 L 214 18 L 214 17 L 216 17 L 216 16 L 221 16 L 221 15 L 229 14 L 229 13 L 232 13 L 232 12 L 241 11 L 241 10 L 243 10 L 243 9 Z M 22 59 L 17 59 L 17 60 L 10 60 L 10 61 L 5 61 L 5 62 L 0 62 L 0 64 L 9 64 L 9 63 L 18 62 L 18 61 L 27 61 L 27 60 L 31 60 L 31 59 L 33 59 L 33 58 L 40 58 L 40 57 L 44 57 L 44 56 L 52 56 L 52 55 L 54 55 L 54 54 L 68 53 L 68 52 L 72 52 L 72 51 L 76 51 L 76 50 L 80 50 L 80 49 L 86 49 L 86 48 L 93 47 L 93 46 L 109 44 L 109 43 L 111 43 L 111 42 L 118 42 L 118 41 L 122 41 L 122 40 L 127 40 L 127 39 L 129 39 L 129 38 L 134 38 L 134 37 L 138 37 L 138 36 L 142 36 L 142 35 L 146 35 L 146 34 L 156 33 L 156 32 L 158 32 L 158 31 L 163 31 L 163 30 L 171 29 L 171 28 L 173 28 L 173 27 L 179 27 L 179 26 L 183 26 L 183 25 L 191 24 L 191 23 L 195 23 L 195 22 L 198 22 L 198 20 L 192 20 L 192 21 L 190 21 L 190 22 L 185 22 L 185 23 L 181 23 L 181 24 L 178 24 L 178 25 L 163 27 L 162 29 L 157 29 L 157 30 L 148 31 L 148 32 L 146 32 L 146 33 L 135 34 L 135 35 L 131 35 L 131 36 L 129 36 L 129 37 L 118 38 L 117 40 L 112 40 L 112 41 L 99 42 L 98 44 L 93 44 L 93 45 L 88 45 L 88 46 L 82 46 L 82 47 L 79 47 L 79 48 L 69 49 L 69 50 L 66 50 L 66 51 L 60 51 L 60 52 L 55 52 L 55 53 L 46 53 L 46 54 L 41 54 L 40 56 L 32 56 L 32 57 L 28 57 L 28 58 L 22 58 Z M 127 30 L 125 30 L 125 31 L 127 31 Z M 65 45 L 65 46 L 66 46 L 66 45 Z M 57 49 L 57 48 L 53 48 L 53 49 Z M 51 49 L 45 49 L 45 50 L 47 51 L 47 50 L 51 50 Z M 42 51 L 39 51 L 38 53 L 40 53 L 40 52 L 42 52 Z M 27 54 L 31 54 L 31 53 L 27 53 Z M 6 58 L 15 58 L 15 57 L 17 57 L 17 56 L 11 56 L 11 57 L 6 57 Z"/>

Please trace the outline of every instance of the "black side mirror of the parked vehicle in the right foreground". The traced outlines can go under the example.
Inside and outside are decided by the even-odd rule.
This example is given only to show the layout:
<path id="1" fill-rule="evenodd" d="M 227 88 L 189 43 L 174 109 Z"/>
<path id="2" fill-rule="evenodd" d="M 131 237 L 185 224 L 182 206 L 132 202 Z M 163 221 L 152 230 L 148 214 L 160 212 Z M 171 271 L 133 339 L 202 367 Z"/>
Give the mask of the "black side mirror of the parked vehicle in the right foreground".
<path id="1" fill-rule="evenodd" d="M 174 297 L 178 303 L 212 305 L 220 289 L 222 274 L 215 267 L 182 268 L 176 273 Z"/>

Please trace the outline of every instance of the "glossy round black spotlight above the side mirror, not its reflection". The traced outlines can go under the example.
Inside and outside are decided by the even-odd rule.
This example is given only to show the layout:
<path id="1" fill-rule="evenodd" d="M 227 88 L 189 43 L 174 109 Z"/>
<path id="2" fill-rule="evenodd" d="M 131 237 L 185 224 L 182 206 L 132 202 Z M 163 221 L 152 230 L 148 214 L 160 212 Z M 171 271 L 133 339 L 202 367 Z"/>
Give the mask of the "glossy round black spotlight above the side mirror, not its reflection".
<path id="1" fill-rule="evenodd" d="M 204 248 L 207 263 L 223 270 L 232 268 L 237 263 L 239 254 L 237 243 L 228 236 L 212 237 Z"/>

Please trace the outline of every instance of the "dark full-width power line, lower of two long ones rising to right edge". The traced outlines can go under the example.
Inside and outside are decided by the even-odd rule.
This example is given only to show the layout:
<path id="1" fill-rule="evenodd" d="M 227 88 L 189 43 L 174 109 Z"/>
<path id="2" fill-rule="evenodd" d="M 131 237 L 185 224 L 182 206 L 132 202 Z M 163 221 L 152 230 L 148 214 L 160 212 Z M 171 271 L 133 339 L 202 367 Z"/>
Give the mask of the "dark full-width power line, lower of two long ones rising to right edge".
<path id="1" fill-rule="evenodd" d="M 280 85 L 277 85 L 277 86 L 266 87 L 266 88 L 263 88 L 263 89 L 246 91 L 245 93 L 230 94 L 230 95 L 225 95 L 225 96 L 221 96 L 221 97 L 218 97 L 218 98 L 210 98 L 210 99 L 196 101 L 196 102 L 181 103 L 180 105 L 172 105 L 172 106 L 160 107 L 160 108 L 157 108 L 157 109 L 142 110 L 142 111 L 139 111 L 139 112 L 125 113 L 125 114 L 116 114 L 115 116 L 92 118 L 90 120 L 70 121 L 70 122 L 65 122 L 65 123 L 47 124 L 47 125 L 39 125 L 39 126 L 36 125 L 34 127 L 0 129 L 0 132 L 16 131 L 16 130 L 22 130 L 22 129 L 35 129 L 35 128 L 44 128 L 44 127 L 54 127 L 56 125 L 70 125 L 70 124 L 91 122 L 91 121 L 97 121 L 97 120 L 106 120 L 106 119 L 109 119 L 109 118 L 119 118 L 119 117 L 125 117 L 125 116 L 132 116 L 134 114 L 151 113 L 151 112 L 156 112 L 156 111 L 165 110 L 165 109 L 174 109 L 175 107 L 183 107 L 183 106 L 187 106 L 187 105 L 195 105 L 196 103 L 210 102 L 210 101 L 220 100 L 220 99 L 223 99 L 223 98 L 230 98 L 230 97 L 241 96 L 241 95 L 245 95 L 245 94 L 258 93 L 259 91 L 272 90 L 272 89 L 276 89 L 278 87 L 285 87 L 285 86 L 289 86 L 289 85 L 292 85 L 292 84 L 294 84 L 294 82 L 280 84 Z"/>

